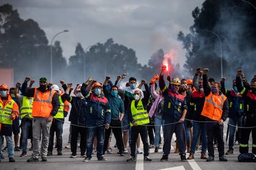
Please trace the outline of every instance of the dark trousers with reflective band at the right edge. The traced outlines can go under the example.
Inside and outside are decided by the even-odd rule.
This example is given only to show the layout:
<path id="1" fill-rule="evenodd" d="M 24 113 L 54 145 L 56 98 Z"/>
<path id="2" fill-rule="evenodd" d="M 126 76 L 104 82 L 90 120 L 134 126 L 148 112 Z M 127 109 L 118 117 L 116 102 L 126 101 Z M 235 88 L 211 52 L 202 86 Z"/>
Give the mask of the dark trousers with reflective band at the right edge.
<path id="1" fill-rule="evenodd" d="M 254 128 L 242 128 L 241 130 L 241 143 L 239 147 L 240 153 L 248 153 L 249 151 L 249 137 L 250 132 L 252 132 L 252 153 L 256 154 L 256 115 L 246 116 L 244 127 L 254 127 Z"/>

